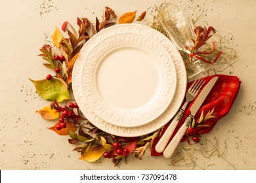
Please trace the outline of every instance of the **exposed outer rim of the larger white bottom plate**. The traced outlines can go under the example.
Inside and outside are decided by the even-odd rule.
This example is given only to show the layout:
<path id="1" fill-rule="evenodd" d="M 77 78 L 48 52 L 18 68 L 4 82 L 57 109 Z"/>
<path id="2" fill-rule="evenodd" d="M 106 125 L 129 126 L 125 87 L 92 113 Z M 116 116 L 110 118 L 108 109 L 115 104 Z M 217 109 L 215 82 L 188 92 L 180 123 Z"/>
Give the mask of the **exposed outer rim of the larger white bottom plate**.
<path id="1" fill-rule="evenodd" d="M 94 48 L 99 41 L 102 41 L 103 39 L 105 39 L 106 37 L 110 37 L 111 35 L 116 35 L 120 31 L 127 31 L 127 33 L 140 33 L 141 35 L 152 37 L 156 42 L 160 42 L 160 44 L 163 45 L 165 50 L 169 52 L 169 55 L 173 59 L 177 73 L 177 89 L 169 107 L 167 107 L 165 112 L 163 112 L 160 117 L 156 118 L 156 120 L 146 125 L 141 125 L 139 127 L 119 127 L 117 125 L 112 125 L 108 122 L 105 122 L 104 120 L 99 118 L 95 114 L 95 112 L 93 112 L 93 110 L 91 110 L 91 108 L 89 107 L 83 95 L 83 88 L 81 87 L 81 73 L 84 58 L 88 56 L 88 54 L 91 52 L 91 49 Z M 79 105 L 81 112 L 96 127 L 102 129 L 103 131 L 106 131 L 107 133 L 121 137 L 138 137 L 160 129 L 160 127 L 167 124 L 167 122 L 169 122 L 169 120 L 171 120 L 171 118 L 175 116 L 176 112 L 181 107 L 186 92 L 186 69 L 177 48 L 175 48 L 173 43 L 160 32 L 151 29 L 150 27 L 138 24 L 115 25 L 102 30 L 102 33 L 100 35 L 92 37 L 85 44 L 85 46 L 83 46 L 79 57 L 75 61 L 72 75 L 72 87 L 74 91 L 74 97 L 77 104 Z"/>

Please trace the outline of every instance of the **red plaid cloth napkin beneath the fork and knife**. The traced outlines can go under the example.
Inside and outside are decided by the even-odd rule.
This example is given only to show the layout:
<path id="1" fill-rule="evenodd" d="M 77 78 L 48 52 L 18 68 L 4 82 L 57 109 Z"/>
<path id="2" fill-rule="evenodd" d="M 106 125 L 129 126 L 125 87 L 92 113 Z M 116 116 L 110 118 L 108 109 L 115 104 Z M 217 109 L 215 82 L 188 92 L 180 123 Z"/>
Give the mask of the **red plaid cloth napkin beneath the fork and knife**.
<path id="1" fill-rule="evenodd" d="M 230 108 L 232 107 L 232 104 L 234 103 L 234 100 L 236 99 L 236 96 L 238 95 L 241 81 L 239 80 L 239 78 L 237 76 L 213 75 L 213 76 L 205 77 L 205 84 L 207 82 L 209 82 L 209 80 L 211 80 L 211 78 L 213 78 L 215 76 L 219 76 L 217 82 L 215 83 L 211 92 L 209 93 L 209 95 L 207 95 L 202 106 L 200 107 L 200 109 L 198 110 L 196 115 L 194 116 L 195 121 L 198 122 L 198 120 L 202 114 L 202 111 L 203 111 L 203 115 L 205 116 L 207 114 L 207 112 L 213 110 L 214 112 L 211 115 L 215 116 L 215 118 L 209 118 L 209 119 L 205 120 L 205 122 L 202 122 L 203 126 L 195 127 L 193 134 L 186 133 L 182 137 L 181 142 L 188 140 L 188 137 L 190 137 L 190 135 L 200 136 L 203 133 L 209 133 L 211 131 L 211 129 L 213 129 L 215 124 L 217 124 L 218 120 L 223 118 L 223 116 L 225 116 L 228 113 L 228 111 L 230 110 Z M 187 89 L 191 85 L 192 85 L 192 82 L 188 83 Z M 184 99 L 184 101 L 185 101 L 185 99 Z M 193 102 L 194 101 L 192 101 L 186 108 L 184 116 L 180 120 L 179 124 L 177 125 L 171 138 L 173 138 L 175 133 L 177 133 L 177 131 L 183 124 L 186 117 L 190 114 L 189 108 L 192 106 Z M 152 156 L 160 156 L 161 155 L 161 153 L 156 152 L 155 146 L 156 146 L 156 143 L 159 141 L 163 132 L 167 129 L 169 124 L 170 124 L 170 122 L 167 125 L 165 125 L 165 127 L 163 128 L 163 131 L 160 133 L 159 137 L 157 137 L 154 140 L 152 150 L 151 150 Z"/>

